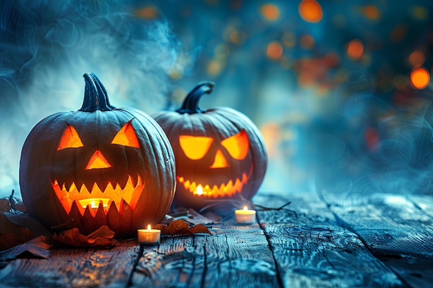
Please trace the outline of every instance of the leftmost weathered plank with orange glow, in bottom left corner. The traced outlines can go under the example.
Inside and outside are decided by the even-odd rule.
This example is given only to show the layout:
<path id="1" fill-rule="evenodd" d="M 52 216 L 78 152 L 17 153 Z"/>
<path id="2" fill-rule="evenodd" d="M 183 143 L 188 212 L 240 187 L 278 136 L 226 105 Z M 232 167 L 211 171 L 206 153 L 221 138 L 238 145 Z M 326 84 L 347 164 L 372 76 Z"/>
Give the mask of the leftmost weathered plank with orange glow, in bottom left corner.
<path id="1" fill-rule="evenodd" d="M 107 249 L 51 249 L 48 259 L 19 258 L 0 269 L 1 287 L 127 287 L 140 247 L 136 241 Z"/>

